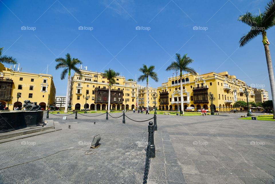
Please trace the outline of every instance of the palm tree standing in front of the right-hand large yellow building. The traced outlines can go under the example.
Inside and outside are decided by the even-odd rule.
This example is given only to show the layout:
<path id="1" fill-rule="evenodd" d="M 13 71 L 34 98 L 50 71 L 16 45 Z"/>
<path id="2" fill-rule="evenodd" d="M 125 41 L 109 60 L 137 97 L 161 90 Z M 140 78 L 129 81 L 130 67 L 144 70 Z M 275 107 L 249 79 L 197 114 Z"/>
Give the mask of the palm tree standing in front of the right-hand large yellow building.
<path id="1" fill-rule="evenodd" d="M 197 72 L 195 69 L 188 67 L 189 64 L 191 64 L 194 60 L 190 57 L 187 57 L 187 54 L 184 54 L 183 57 L 180 56 L 180 54 L 176 53 L 176 61 L 173 61 L 167 68 L 166 71 L 180 71 L 180 105 L 182 113 L 183 111 L 183 95 L 182 95 L 182 71 L 185 71 L 187 73 L 191 73 L 192 75 L 197 75 Z"/>

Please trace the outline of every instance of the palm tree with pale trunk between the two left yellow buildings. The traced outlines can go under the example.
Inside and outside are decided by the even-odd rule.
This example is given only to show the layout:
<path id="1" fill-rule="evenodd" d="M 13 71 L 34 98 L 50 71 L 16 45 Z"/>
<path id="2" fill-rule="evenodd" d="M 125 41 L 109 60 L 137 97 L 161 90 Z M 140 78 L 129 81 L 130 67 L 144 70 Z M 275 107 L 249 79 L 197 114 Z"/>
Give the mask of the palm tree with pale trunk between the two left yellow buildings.
<path id="1" fill-rule="evenodd" d="M 82 76 L 80 70 L 76 67 L 76 65 L 82 64 L 82 61 L 80 61 L 77 58 L 71 58 L 71 55 L 69 53 L 66 54 L 66 59 L 60 57 L 60 58 L 56 58 L 55 61 L 57 62 L 56 66 L 55 66 L 56 70 L 58 70 L 60 68 L 64 68 L 63 71 L 61 72 L 61 75 L 60 75 L 61 80 L 65 79 L 65 77 L 68 73 L 66 102 L 65 102 L 65 109 L 64 109 L 64 113 L 67 113 L 68 112 L 68 100 L 69 100 L 71 70 L 73 70 L 75 73 L 78 73 L 80 76 Z"/>

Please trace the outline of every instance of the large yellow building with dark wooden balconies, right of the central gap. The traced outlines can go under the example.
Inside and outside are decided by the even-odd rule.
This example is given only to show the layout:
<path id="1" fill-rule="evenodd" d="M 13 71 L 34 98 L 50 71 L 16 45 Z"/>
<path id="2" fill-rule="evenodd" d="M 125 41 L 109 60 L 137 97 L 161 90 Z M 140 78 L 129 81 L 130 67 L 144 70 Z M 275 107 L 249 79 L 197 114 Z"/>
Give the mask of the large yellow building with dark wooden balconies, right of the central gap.
<path id="1" fill-rule="evenodd" d="M 226 71 L 205 73 L 197 76 L 187 73 L 182 75 L 182 84 L 184 110 L 187 107 L 194 107 L 195 111 L 201 108 L 209 109 L 210 111 L 209 92 L 214 95 L 214 110 L 217 111 L 233 110 L 233 104 L 236 101 L 246 102 L 244 94 L 245 82 L 236 79 L 235 75 L 229 75 Z M 179 76 L 171 76 L 157 90 L 159 94 L 158 109 L 175 111 L 178 106 L 181 106 Z M 249 92 L 249 102 L 255 102 L 253 89 L 247 86 L 247 91 Z"/>

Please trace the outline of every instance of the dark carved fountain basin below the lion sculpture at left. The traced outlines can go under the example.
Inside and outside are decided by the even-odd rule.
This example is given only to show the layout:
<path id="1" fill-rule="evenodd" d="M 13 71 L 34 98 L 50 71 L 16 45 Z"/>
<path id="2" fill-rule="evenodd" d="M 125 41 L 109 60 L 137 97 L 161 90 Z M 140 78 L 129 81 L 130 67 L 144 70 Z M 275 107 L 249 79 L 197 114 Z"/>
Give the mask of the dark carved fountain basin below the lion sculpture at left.
<path id="1" fill-rule="evenodd" d="M 0 133 L 43 124 L 44 111 L 1 111 Z"/>

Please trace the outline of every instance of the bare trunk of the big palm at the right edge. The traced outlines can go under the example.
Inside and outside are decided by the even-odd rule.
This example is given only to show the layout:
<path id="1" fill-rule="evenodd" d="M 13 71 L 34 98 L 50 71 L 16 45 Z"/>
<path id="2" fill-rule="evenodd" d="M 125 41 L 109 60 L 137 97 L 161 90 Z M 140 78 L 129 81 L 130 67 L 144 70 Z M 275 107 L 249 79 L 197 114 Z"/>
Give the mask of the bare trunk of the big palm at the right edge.
<path id="1" fill-rule="evenodd" d="M 266 52 L 266 63 L 267 63 L 272 102 L 273 102 L 273 119 L 275 119 L 275 111 L 274 111 L 275 110 L 275 82 L 274 82 L 274 73 L 273 73 L 272 61 L 271 61 L 268 44 L 264 45 L 264 50 Z"/>

